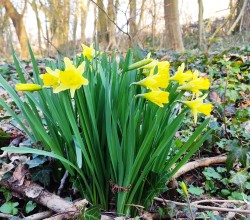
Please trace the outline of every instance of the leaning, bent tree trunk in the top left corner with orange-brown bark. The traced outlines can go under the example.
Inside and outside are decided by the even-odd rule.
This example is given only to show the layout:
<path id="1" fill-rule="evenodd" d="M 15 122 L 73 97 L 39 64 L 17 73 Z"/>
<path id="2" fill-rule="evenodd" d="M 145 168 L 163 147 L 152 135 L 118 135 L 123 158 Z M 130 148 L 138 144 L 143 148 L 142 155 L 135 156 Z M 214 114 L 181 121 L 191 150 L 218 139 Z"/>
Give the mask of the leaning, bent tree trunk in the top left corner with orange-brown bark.
<path id="1" fill-rule="evenodd" d="M 0 5 L 2 5 L 8 16 L 13 22 L 13 25 L 16 29 L 17 37 L 21 46 L 21 57 L 28 58 L 28 37 L 25 29 L 25 25 L 23 22 L 23 14 L 19 14 L 17 10 L 14 8 L 10 0 L 0 0 Z"/>

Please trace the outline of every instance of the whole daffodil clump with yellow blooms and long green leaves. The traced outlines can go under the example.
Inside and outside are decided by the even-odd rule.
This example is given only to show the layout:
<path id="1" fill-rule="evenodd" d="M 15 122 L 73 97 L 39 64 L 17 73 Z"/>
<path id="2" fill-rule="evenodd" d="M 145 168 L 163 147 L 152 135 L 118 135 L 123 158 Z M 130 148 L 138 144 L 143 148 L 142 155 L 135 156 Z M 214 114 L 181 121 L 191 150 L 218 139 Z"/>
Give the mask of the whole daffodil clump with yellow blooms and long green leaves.
<path id="1" fill-rule="evenodd" d="M 134 62 L 128 51 L 117 62 L 114 55 L 84 46 L 73 61 L 59 57 L 40 75 L 30 48 L 32 83 L 13 55 L 21 82 L 15 89 L 25 96 L 0 79 L 21 113 L 3 100 L 0 104 L 35 147 L 2 149 L 60 160 L 82 197 L 103 210 L 111 201 L 118 214 L 127 216 L 136 214 L 136 205 L 149 207 L 211 133 L 204 133 L 209 118 L 197 119 L 212 110 L 204 102 L 210 82 L 198 71 L 185 71 L 184 64 L 170 77 L 168 61 L 148 56 Z M 190 117 L 189 109 L 197 127 L 179 148 L 175 134 Z"/>

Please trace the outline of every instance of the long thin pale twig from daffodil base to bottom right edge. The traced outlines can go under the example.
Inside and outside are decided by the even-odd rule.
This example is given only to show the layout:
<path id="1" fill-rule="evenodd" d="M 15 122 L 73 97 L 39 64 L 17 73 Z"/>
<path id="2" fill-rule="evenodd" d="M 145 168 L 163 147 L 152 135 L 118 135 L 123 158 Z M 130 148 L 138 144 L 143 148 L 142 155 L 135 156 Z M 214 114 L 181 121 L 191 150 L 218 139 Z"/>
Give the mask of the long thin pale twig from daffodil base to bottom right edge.
<path id="1" fill-rule="evenodd" d="M 161 199 L 161 198 L 158 198 L 158 197 L 155 197 L 154 200 L 159 201 L 159 202 L 174 203 L 175 205 L 180 205 L 180 206 L 187 206 L 186 203 L 175 202 L 175 201 L 171 201 L 171 200 L 165 200 L 165 199 Z M 191 202 L 191 205 L 196 207 L 197 209 L 222 211 L 222 212 L 238 212 L 238 213 L 250 214 L 250 210 L 229 209 L 229 208 L 220 208 L 220 207 L 214 207 L 214 206 L 203 206 L 203 205 L 197 205 L 196 203 L 193 203 L 193 202 Z"/>

